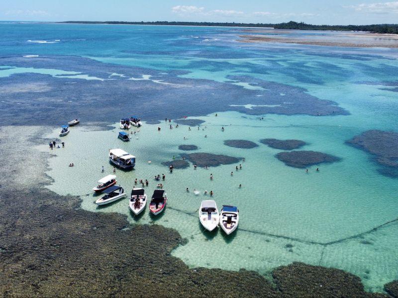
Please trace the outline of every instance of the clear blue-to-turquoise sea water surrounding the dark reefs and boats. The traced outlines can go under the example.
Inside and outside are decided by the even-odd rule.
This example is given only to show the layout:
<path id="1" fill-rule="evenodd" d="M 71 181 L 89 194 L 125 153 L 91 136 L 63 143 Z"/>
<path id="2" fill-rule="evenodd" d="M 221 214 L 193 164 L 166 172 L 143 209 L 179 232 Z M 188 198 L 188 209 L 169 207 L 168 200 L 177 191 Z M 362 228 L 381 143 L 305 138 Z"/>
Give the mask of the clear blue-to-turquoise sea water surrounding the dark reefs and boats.
<path id="1" fill-rule="evenodd" d="M 397 128 L 397 92 L 385 86 L 385 82 L 396 82 L 396 49 L 242 44 L 236 41 L 240 34 L 236 28 L 62 24 L 0 24 L 0 28 L 3 56 L 88 57 L 96 63 L 143 68 L 142 75 L 147 76 L 142 79 L 156 81 L 148 74 L 161 71 L 166 82 L 169 73 L 178 71 L 181 81 L 190 78 L 198 82 L 207 79 L 234 83 L 241 86 L 242 94 L 246 89 L 267 92 L 256 82 L 271 81 L 301 87 L 317 98 L 337 102 L 351 115 L 268 114 L 260 121 L 259 115 L 229 111 L 215 117 L 214 113 L 206 113 L 195 117 L 205 121 L 199 131 L 196 127 L 189 131 L 183 125 L 170 130 L 163 121 L 158 132 L 158 125 L 145 123 L 136 135 L 138 139 L 134 136 L 129 143 L 117 139 L 117 123 L 108 131 L 81 126 L 71 128 L 71 133 L 63 138 L 64 149 L 51 151 L 45 145 L 39 149 L 57 155 L 49 161 L 48 174 L 54 178 L 51 190 L 81 196 L 82 208 L 86 210 L 118 212 L 132 223 L 156 223 L 177 229 L 189 241 L 175 249 L 173 255 L 189 266 L 246 268 L 267 273 L 279 265 L 301 261 L 352 272 L 362 278 L 369 291 L 381 291 L 383 284 L 398 278 L 398 225 L 392 223 L 371 231 L 397 218 L 397 180 L 381 175 L 378 165 L 366 152 L 344 143 L 369 129 Z M 8 64 L 0 66 L 0 76 L 31 71 Z M 124 75 L 120 72 L 104 78 L 100 74 L 50 69 L 46 65 L 36 67 L 33 72 L 50 74 L 59 80 L 64 76 L 97 78 L 98 83 L 101 82 L 98 78 Z M 230 75 L 239 75 L 240 79 L 230 82 Z M 174 92 L 173 88 L 170 87 L 170 92 Z M 148 98 L 150 94 L 148 90 Z M 280 96 L 285 96 L 283 90 Z M 289 102 L 291 98 L 285 97 Z M 244 96 L 239 105 L 247 111 L 256 109 Z M 120 115 L 125 116 L 128 115 Z M 145 115 L 141 116 L 145 120 Z M 224 132 L 220 130 L 222 126 L 226 128 Z M 58 131 L 47 137 L 57 138 Z M 265 138 L 303 140 L 308 144 L 305 150 L 330 153 L 342 159 L 320 165 L 319 172 L 310 167 L 307 174 L 276 159 L 275 154 L 281 150 L 259 143 Z M 237 149 L 223 145 L 224 140 L 230 139 L 249 140 L 259 147 Z M 245 157 L 245 161 L 238 171 L 235 164 L 207 170 L 194 169 L 191 164 L 170 174 L 161 162 L 184 153 L 178 149 L 183 144 L 197 145 L 199 149 L 193 152 Z M 162 216 L 152 218 L 146 210 L 134 218 L 127 199 L 102 208 L 93 203 L 96 197 L 92 188 L 96 181 L 112 172 L 107 161 L 109 148 L 122 148 L 137 156 L 135 170 L 116 171 L 118 182 L 127 192 L 134 186 L 135 178 L 148 179 L 146 192 L 151 195 L 158 183 L 153 177 L 166 174 L 163 184 L 169 201 Z M 71 162 L 75 164 L 73 168 L 68 167 Z M 100 172 L 102 165 L 105 173 Z M 209 179 L 210 173 L 213 180 Z M 186 191 L 187 187 L 190 192 Z M 195 195 L 194 189 L 200 194 Z M 214 192 L 218 206 L 238 206 L 240 223 L 230 237 L 222 231 L 203 232 L 197 209 L 201 200 L 209 198 L 203 194 L 204 190 Z"/>

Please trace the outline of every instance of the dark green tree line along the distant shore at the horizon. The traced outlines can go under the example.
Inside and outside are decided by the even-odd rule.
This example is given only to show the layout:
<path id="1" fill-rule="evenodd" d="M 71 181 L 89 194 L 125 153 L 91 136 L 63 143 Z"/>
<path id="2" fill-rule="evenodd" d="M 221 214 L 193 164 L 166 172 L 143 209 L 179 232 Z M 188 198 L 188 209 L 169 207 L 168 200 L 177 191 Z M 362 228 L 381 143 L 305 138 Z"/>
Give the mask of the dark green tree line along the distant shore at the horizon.
<path id="1" fill-rule="evenodd" d="M 336 30 L 336 31 L 369 31 L 373 33 L 398 34 L 398 24 L 375 24 L 375 25 L 311 25 L 303 22 L 290 21 L 279 24 L 263 23 L 214 23 L 214 22 L 118 22 L 118 21 L 66 21 L 69 24 L 118 24 L 118 25 L 169 25 L 169 26 L 215 26 L 215 27 L 272 27 L 275 29 L 298 29 L 298 30 Z"/>

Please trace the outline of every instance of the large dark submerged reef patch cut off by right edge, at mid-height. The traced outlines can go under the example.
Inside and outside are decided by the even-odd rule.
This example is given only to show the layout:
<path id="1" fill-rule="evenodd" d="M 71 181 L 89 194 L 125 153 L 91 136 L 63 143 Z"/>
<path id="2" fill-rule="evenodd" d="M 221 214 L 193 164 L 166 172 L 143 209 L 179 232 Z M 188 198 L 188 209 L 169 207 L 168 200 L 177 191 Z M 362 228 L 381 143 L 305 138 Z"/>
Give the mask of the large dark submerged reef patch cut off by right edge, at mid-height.
<path id="1" fill-rule="evenodd" d="M 346 143 L 373 154 L 381 174 L 398 177 L 398 133 L 369 130 Z"/>

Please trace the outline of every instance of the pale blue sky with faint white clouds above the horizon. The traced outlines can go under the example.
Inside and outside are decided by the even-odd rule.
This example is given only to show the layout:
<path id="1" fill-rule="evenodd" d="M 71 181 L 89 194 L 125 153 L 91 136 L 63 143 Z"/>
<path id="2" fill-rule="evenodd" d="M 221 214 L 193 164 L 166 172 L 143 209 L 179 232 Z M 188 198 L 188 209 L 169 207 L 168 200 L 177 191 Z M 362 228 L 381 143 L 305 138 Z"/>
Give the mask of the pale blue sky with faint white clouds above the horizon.
<path id="1" fill-rule="evenodd" d="M 398 1 L 1 0 L 0 20 L 391 24 L 398 23 Z"/>

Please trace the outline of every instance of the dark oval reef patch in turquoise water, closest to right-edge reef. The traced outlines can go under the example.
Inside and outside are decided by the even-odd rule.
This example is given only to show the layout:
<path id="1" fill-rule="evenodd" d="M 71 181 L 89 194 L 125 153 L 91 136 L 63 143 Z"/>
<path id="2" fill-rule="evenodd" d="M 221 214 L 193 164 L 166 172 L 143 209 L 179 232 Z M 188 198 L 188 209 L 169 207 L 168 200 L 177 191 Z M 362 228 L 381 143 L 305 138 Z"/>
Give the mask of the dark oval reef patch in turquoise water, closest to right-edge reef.
<path id="1" fill-rule="evenodd" d="M 339 157 L 317 151 L 284 151 L 276 154 L 276 157 L 286 165 L 297 168 L 305 168 L 314 164 L 331 163 L 340 160 Z"/>

